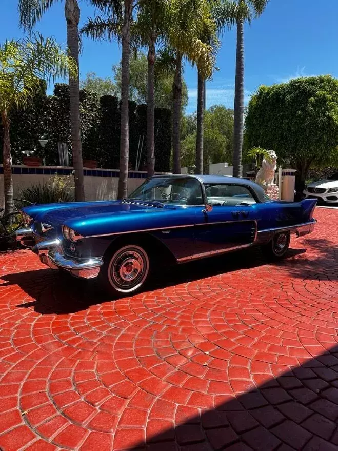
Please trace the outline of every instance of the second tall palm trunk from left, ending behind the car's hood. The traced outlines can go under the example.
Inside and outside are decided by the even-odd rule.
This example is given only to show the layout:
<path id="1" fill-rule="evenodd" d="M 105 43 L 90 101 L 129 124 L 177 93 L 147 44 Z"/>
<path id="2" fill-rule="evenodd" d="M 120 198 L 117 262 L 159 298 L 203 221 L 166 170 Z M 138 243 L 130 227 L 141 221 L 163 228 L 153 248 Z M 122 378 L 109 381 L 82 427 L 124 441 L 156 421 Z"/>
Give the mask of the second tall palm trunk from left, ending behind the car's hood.
<path id="1" fill-rule="evenodd" d="M 118 199 L 128 195 L 129 163 L 129 53 L 130 22 L 133 0 L 124 0 L 124 22 L 122 27 L 122 68 L 121 68 L 121 134 L 120 134 L 120 178 L 118 179 Z"/>

